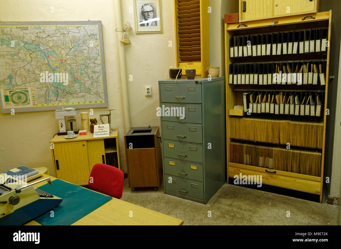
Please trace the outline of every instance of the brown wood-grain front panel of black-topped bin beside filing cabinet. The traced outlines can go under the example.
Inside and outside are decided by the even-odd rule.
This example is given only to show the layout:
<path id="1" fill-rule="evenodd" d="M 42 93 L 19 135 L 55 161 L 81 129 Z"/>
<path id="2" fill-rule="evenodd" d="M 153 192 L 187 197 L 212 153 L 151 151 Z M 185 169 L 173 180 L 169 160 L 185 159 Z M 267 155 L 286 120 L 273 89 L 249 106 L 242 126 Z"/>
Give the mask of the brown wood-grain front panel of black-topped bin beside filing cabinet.
<path id="1" fill-rule="evenodd" d="M 155 148 L 127 149 L 131 187 L 157 187 Z"/>

